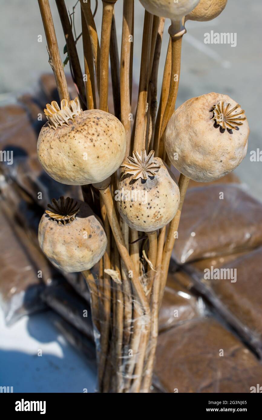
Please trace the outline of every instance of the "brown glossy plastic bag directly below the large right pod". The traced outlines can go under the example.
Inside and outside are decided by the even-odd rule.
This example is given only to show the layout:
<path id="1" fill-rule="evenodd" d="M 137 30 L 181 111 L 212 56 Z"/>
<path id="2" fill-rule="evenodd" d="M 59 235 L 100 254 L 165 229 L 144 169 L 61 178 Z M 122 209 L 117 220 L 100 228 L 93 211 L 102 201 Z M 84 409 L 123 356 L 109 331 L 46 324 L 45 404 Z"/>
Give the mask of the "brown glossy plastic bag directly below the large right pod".
<path id="1" fill-rule="evenodd" d="M 261 231 L 262 204 L 241 186 L 193 188 L 185 197 L 173 257 L 184 264 L 250 250 L 262 244 Z"/>

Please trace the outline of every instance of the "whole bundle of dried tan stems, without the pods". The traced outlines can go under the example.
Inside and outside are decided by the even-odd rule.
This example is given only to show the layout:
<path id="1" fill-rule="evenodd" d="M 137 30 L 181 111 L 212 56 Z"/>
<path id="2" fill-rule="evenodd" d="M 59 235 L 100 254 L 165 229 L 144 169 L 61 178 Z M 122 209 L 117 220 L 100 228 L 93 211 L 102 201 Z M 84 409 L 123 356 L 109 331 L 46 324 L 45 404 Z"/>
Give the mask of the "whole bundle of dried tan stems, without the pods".
<path id="1" fill-rule="evenodd" d="M 164 132 L 175 110 L 181 43 L 185 30 L 181 22 L 173 22 L 169 28 L 170 41 L 156 115 L 156 87 L 165 19 L 145 11 L 138 102 L 131 133 L 134 0 L 123 0 L 120 60 L 114 21 L 116 0 L 102 2 L 99 44 L 90 0 L 79 0 L 85 63 L 84 83 L 64 0 L 56 0 L 82 109 L 97 107 L 97 91 L 98 108 L 108 110 L 110 56 L 114 111 L 126 131 L 126 156 L 132 150 L 140 152 L 142 149 L 150 151 L 154 148 L 155 155 L 169 164 L 164 151 Z M 38 0 L 38 3 L 58 93 L 61 100 L 69 100 L 50 5 L 48 0 Z M 178 75 L 178 79 L 174 75 Z M 111 179 L 100 184 L 94 184 L 91 188 L 82 186 L 84 199 L 101 216 L 108 238 L 106 252 L 100 261 L 98 278 L 94 278 L 90 271 L 82 273 L 90 287 L 94 327 L 100 334 L 99 391 L 149 392 L 158 335 L 159 307 L 175 242 L 174 232 L 178 228 L 189 179 L 180 176 L 180 206 L 168 229 L 165 226 L 159 231 L 144 235 L 129 228 L 116 210 L 112 195 L 120 176 L 121 171 L 118 170 Z M 100 194 L 100 205 L 96 191 Z M 142 252 L 144 257 L 141 259 Z M 109 275 L 110 270 L 113 270 L 114 276 Z"/>

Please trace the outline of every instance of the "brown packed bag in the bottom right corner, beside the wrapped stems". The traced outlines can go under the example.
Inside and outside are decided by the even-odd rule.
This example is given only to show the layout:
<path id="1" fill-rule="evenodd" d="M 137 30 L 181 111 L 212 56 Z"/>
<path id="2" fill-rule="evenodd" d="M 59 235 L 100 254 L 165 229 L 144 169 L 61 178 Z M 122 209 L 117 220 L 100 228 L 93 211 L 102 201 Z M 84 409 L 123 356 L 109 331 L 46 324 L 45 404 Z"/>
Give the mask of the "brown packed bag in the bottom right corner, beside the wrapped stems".
<path id="1" fill-rule="evenodd" d="M 171 393 L 249 393 L 262 378 L 256 357 L 213 318 L 161 333 L 154 372 L 156 384 Z"/>

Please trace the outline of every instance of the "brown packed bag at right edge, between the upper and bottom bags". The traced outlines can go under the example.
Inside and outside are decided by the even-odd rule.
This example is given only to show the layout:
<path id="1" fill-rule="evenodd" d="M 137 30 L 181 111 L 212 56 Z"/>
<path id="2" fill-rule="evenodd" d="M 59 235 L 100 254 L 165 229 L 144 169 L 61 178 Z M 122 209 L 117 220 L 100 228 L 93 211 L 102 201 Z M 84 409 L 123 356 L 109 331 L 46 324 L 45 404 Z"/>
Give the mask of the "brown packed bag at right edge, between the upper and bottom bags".
<path id="1" fill-rule="evenodd" d="M 259 247 L 198 260 L 180 266 L 173 274 L 176 283 L 212 304 L 259 357 L 262 357 L 262 294 L 258 283 L 262 273 L 261 254 L 262 247 Z"/>

